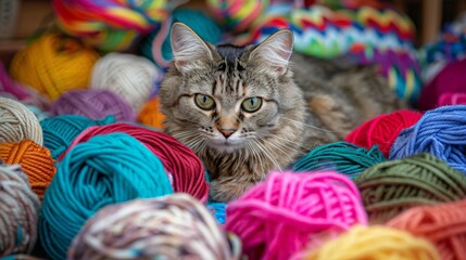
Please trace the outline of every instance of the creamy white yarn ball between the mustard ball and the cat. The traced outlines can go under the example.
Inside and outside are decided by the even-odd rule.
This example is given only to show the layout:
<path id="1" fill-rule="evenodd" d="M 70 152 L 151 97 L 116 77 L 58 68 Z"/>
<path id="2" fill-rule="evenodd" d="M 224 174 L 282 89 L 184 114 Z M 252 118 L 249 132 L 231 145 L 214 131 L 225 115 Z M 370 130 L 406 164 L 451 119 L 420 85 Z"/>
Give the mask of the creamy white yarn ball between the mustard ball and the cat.
<path id="1" fill-rule="evenodd" d="M 91 88 L 110 90 L 136 112 L 155 87 L 158 68 L 149 60 L 127 53 L 109 53 L 92 69 Z"/>

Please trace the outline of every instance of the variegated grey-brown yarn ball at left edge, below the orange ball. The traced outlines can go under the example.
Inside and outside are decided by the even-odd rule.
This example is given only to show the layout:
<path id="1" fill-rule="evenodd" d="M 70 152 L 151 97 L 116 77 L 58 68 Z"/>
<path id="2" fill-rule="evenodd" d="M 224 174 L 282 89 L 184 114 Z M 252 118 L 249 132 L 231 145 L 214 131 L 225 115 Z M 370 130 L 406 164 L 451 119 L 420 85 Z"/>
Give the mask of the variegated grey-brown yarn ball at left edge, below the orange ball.
<path id="1" fill-rule="evenodd" d="M 33 250 L 39 209 L 40 200 L 21 167 L 0 164 L 0 258 Z"/>

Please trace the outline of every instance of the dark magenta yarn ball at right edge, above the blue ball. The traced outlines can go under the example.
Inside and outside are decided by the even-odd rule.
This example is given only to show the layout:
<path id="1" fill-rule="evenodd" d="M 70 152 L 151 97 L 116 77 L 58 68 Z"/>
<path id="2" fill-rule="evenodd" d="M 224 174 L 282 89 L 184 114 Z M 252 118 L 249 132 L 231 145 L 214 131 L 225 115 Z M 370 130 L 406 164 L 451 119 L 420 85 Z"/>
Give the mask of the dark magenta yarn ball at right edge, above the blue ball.
<path id="1" fill-rule="evenodd" d="M 419 99 L 419 109 L 428 110 L 439 106 L 439 99 L 446 92 L 466 93 L 466 60 L 454 61 L 445 65 L 442 70 L 424 88 Z"/>

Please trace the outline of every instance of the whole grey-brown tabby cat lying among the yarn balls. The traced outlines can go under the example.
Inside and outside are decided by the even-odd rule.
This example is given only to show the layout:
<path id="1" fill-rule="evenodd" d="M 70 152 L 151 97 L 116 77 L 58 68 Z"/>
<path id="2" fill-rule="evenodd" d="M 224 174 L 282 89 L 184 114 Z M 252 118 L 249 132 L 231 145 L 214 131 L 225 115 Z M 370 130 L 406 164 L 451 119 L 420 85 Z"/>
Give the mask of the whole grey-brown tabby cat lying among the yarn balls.
<path id="1" fill-rule="evenodd" d="M 403 106 L 373 67 L 292 54 L 287 29 L 257 46 L 214 46 L 175 23 L 171 41 L 159 92 L 166 132 L 203 160 L 217 202 Z"/>

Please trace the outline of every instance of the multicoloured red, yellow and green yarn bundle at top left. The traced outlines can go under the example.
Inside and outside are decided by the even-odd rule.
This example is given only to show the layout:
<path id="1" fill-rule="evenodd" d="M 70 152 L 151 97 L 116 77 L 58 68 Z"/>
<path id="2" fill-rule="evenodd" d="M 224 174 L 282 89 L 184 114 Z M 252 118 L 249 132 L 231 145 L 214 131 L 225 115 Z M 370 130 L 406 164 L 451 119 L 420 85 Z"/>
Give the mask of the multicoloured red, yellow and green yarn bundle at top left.
<path id="1" fill-rule="evenodd" d="M 53 0 L 59 27 L 101 51 L 127 50 L 166 18 L 166 0 Z"/>

